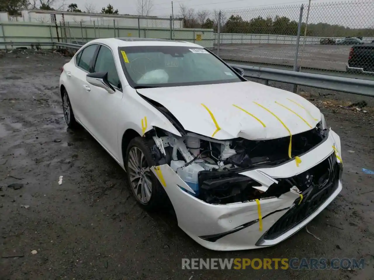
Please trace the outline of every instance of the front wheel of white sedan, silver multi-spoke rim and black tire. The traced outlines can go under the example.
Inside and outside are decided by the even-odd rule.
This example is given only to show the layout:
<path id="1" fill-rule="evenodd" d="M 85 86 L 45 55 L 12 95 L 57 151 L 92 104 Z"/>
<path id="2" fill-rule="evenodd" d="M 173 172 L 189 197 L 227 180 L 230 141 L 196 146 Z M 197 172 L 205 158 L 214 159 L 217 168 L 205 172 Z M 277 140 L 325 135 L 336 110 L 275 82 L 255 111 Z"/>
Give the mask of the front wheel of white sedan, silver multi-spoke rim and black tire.
<path id="1" fill-rule="evenodd" d="M 150 167 L 154 166 L 147 140 L 135 137 L 126 152 L 125 168 L 132 194 L 147 210 L 165 208 L 167 195 Z"/>

